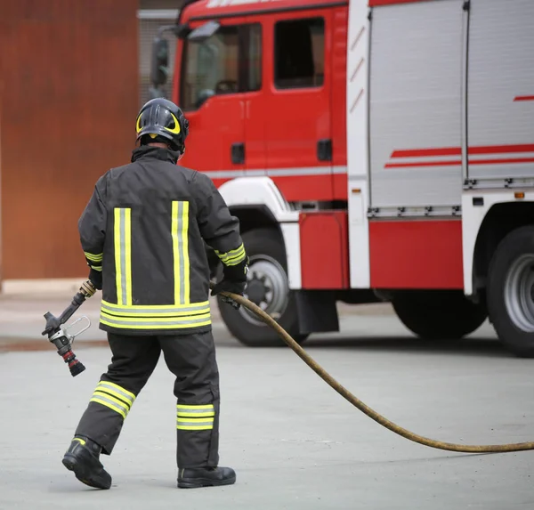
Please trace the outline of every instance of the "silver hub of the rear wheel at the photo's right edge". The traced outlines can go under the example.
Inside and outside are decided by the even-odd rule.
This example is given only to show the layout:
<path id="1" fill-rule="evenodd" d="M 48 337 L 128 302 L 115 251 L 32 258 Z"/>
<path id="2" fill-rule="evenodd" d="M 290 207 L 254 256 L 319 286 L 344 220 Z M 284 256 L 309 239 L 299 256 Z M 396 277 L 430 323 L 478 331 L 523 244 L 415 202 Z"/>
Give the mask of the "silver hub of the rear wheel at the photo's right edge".
<path id="1" fill-rule="evenodd" d="M 534 332 L 534 255 L 522 255 L 506 275 L 505 303 L 517 328 Z"/>

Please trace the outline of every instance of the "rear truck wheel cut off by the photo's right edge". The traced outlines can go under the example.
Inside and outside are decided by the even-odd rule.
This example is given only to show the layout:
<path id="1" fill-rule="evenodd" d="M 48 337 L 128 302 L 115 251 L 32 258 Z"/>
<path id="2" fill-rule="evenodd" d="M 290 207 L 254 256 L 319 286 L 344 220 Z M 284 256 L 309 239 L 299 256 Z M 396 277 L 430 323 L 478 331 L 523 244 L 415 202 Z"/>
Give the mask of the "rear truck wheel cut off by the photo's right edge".
<path id="1" fill-rule="evenodd" d="M 488 310 L 506 349 L 534 357 L 534 227 L 510 232 L 495 251 L 488 275 Z"/>

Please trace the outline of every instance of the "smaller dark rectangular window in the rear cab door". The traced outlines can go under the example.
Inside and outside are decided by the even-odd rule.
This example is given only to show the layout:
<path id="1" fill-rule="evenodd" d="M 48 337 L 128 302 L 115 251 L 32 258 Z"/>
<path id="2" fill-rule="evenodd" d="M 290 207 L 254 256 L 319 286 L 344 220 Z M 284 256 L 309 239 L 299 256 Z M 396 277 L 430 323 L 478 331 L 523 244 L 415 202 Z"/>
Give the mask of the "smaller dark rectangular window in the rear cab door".
<path id="1" fill-rule="evenodd" d="M 322 18 L 279 21 L 274 31 L 274 85 L 277 88 L 321 86 L 325 66 Z"/>

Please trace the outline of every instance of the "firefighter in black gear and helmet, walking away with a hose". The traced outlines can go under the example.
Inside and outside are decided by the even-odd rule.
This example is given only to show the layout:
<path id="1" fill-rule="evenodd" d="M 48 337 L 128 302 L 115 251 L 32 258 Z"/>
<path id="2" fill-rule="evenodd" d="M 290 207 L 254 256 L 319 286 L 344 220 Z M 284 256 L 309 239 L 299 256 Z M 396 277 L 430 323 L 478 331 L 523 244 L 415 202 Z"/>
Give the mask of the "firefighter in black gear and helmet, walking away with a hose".
<path id="1" fill-rule="evenodd" d="M 248 258 L 239 220 L 209 177 L 176 165 L 189 123 L 173 102 L 148 101 L 136 132 L 131 163 L 101 176 L 78 223 L 89 278 L 102 290 L 100 328 L 112 359 L 63 464 L 81 482 L 109 489 L 100 455 L 113 451 L 163 352 L 176 377 L 178 487 L 228 485 L 236 474 L 218 465 L 219 373 L 205 243 L 223 263 L 212 295 L 243 295 Z"/>

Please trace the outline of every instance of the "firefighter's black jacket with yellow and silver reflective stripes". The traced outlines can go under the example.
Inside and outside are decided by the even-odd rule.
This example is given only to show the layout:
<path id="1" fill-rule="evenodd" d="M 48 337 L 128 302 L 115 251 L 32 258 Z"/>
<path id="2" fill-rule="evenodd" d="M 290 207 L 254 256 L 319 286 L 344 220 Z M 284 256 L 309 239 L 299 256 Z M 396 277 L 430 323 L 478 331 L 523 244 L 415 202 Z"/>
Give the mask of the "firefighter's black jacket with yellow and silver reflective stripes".
<path id="1" fill-rule="evenodd" d="M 78 229 L 102 271 L 100 328 L 172 334 L 211 328 L 206 244 L 228 266 L 247 258 L 239 220 L 205 174 L 150 146 L 96 183 Z"/>

